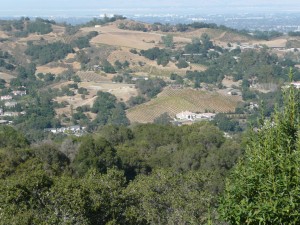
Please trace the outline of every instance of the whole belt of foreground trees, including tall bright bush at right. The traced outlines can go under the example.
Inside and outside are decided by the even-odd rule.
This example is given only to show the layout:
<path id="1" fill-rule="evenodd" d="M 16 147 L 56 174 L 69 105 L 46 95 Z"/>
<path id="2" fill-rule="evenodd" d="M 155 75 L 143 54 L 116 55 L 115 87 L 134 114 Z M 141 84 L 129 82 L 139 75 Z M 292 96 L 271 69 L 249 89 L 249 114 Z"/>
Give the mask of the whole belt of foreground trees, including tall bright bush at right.
<path id="1" fill-rule="evenodd" d="M 1 126 L 0 223 L 298 224 L 299 109 L 291 87 L 284 108 L 236 138 L 202 122 L 30 144 Z"/>

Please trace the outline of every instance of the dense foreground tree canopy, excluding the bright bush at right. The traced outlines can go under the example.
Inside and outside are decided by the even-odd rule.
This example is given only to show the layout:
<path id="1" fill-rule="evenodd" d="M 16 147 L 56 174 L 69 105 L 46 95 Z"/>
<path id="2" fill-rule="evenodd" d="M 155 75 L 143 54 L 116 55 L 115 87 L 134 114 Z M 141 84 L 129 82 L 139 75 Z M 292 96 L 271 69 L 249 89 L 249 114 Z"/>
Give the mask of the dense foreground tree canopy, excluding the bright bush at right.
<path id="1" fill-rule="evenodd" d="M 214 195 L 240 154 L 208 123 L 109 125 L 61 147 L 26 148 L 0 149 L 3 224 L 214 221 Z"/>

